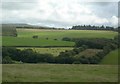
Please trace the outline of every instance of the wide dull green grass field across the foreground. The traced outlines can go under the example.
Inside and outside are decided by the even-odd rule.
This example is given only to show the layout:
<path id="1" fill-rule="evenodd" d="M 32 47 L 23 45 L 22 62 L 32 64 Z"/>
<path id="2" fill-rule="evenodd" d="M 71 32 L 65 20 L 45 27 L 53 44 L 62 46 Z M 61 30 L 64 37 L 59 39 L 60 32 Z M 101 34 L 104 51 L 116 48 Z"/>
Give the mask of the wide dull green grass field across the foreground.
<path id="1" fill-rule="evenodd" d="M 3 82 L 117 82 L 116 65 L 5 64 Z"/>

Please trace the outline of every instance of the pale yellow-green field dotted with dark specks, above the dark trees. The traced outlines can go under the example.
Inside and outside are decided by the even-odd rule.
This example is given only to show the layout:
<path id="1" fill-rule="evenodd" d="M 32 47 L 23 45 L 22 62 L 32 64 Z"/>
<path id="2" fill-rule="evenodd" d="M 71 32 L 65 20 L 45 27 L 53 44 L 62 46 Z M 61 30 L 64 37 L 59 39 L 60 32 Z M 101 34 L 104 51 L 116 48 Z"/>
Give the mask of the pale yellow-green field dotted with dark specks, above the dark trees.
<path id="1" fill-rule="evenodd" d="M 28 49 L 28 48 L 18 48 L 18 49 Z M 48 53 L 52 54 L 54 56 L 58 56 L 60 52 L 64 52 L 65 50 L 72 50 L 72 47 L 58 47 L 58 48 L 29 48 L 32 49 L 33 51 L 36 51 L 38 53 Z"/>

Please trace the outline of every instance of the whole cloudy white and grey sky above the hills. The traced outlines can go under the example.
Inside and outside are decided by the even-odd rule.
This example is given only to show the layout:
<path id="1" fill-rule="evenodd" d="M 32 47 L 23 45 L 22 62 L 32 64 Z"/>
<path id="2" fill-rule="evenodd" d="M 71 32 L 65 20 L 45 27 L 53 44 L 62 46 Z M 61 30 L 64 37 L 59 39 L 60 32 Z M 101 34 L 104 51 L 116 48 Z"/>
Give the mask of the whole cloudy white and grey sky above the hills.
<path id="1" fill-rule="evenodd" d="M 58 28 L 70 28 L 73 25 L 118 25 L 117 2 L 3 0 L 1 11 L 1 23 L 25 23 Z"/>

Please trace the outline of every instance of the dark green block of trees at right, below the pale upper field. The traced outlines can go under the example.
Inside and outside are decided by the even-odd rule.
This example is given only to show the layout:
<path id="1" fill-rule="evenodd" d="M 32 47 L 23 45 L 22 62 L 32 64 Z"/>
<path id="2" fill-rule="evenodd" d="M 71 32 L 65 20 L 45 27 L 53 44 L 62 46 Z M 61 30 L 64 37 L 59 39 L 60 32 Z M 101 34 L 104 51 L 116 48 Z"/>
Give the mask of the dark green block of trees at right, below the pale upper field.
<path id="1" fill-rule="evenodd" d="M 88 48 L 95 48 L 95 49 L 103 49 L 106 44 L 113 43 L 114 40 L 112 39 L 104 39 L 104 38 L 95 38 L 95 39 L 73 39 L 73 41 L 76 43 L 76 47 L 81 47 L 82 45 L 86 45 Z"/>

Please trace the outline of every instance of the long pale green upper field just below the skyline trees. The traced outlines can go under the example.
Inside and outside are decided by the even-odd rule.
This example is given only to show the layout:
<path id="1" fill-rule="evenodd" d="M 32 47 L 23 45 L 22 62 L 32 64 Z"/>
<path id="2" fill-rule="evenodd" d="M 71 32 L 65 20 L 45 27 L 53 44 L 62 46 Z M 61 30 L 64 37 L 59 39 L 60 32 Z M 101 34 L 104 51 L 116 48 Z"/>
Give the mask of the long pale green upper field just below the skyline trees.
<path id="1" fill-rule="evenodd" d="M 70 38 L 114 38 L 117 35 L 113 31 L 98 30 L 45 30 L 45 29 L 17 29 L 18 37 L 29 37 L 38 35 L 39 38 L 62 39 Z"/>

